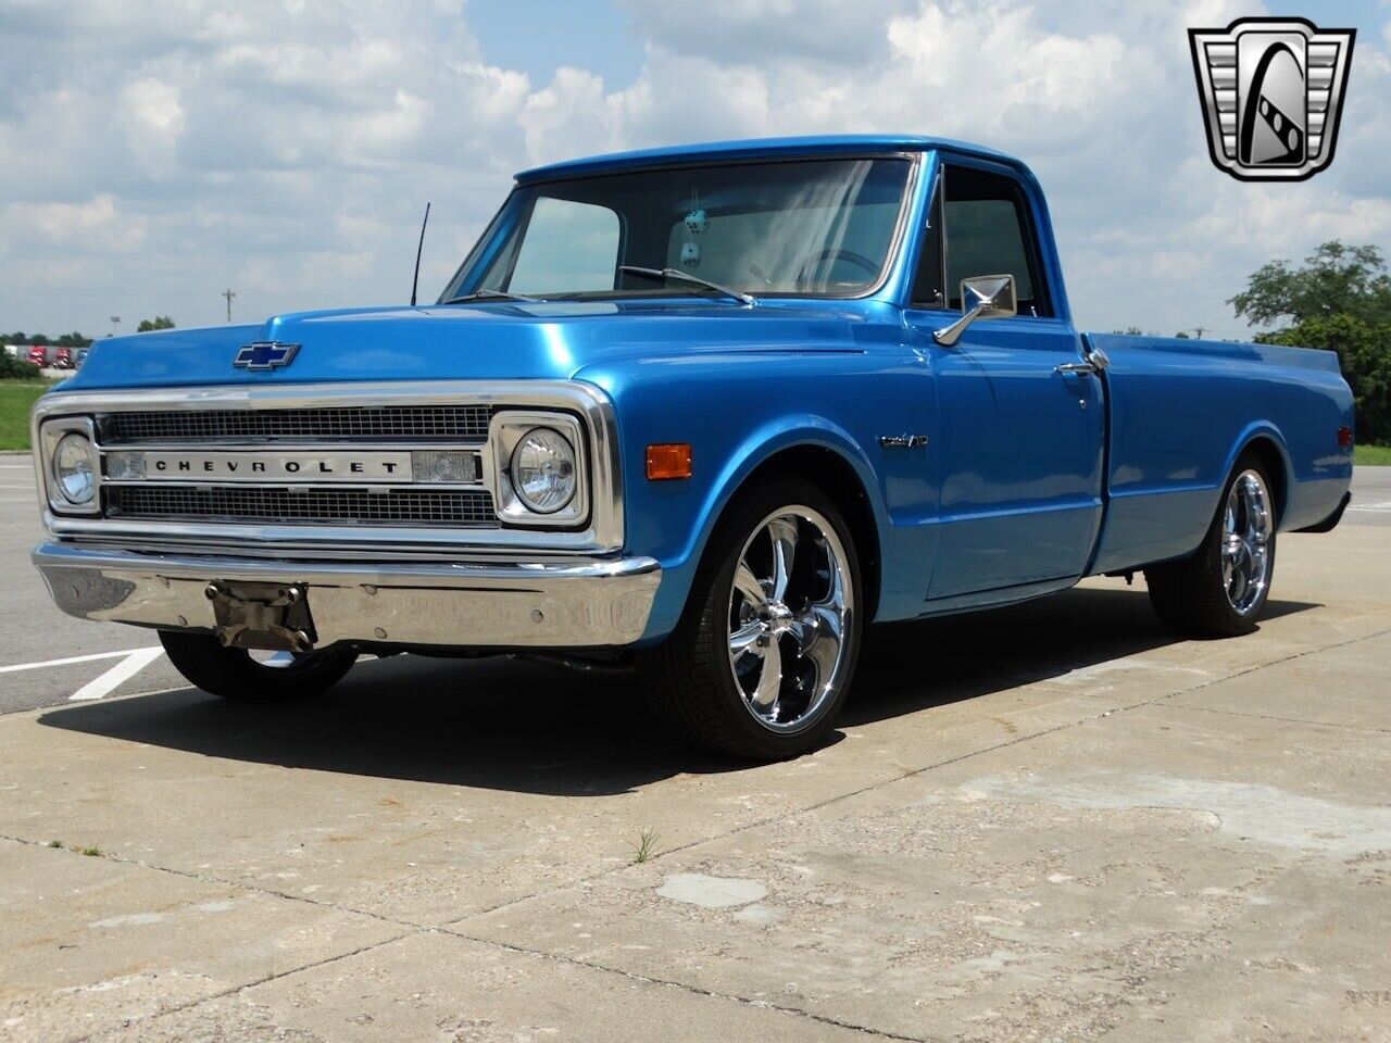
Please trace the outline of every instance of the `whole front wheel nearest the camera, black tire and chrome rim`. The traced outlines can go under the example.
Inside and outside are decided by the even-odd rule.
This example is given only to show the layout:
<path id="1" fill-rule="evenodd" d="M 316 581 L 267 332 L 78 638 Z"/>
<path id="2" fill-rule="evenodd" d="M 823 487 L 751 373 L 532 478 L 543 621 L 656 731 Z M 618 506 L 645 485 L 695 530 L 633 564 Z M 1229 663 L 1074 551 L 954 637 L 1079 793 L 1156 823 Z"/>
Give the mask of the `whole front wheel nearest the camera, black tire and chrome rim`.
<path id="1" fill-rule="evenodd" d="M 751 761 L 815 750 L 854 674 L 861 581 L 850 528 L 815 485 L 741 495 L 682 622 L 640 656 L 658 708 L 696 745 Z"/>

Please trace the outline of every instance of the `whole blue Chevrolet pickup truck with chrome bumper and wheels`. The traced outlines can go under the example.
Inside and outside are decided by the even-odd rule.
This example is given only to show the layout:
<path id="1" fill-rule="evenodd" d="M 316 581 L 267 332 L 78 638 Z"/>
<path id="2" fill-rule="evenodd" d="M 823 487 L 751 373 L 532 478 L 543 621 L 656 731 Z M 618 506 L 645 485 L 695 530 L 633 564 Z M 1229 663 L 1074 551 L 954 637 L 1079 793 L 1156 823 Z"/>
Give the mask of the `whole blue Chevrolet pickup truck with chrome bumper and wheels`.
<path id="1" fill-rule="evenodd" d="M 1328 352 L 1079 332 L 1018 160 L 798 138 L 526 171 L 431 305 L 103 341 L 33 445 L 57 605 L 210 693 L 632 663 L 772 759 L 871 623 L 1143 570 L 1175 631 L 1252 630 L 1277 533 L 1348 502 L 1352 396 Z"/>

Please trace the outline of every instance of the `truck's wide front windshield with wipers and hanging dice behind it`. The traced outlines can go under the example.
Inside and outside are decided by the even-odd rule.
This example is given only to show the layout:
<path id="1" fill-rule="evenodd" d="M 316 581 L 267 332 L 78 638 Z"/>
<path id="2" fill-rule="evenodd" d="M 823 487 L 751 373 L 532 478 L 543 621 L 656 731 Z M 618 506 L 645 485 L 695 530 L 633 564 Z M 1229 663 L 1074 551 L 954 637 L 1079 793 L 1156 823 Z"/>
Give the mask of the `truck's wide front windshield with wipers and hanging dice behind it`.
<path id="1" fill-rule="evenodd" d="M 901 157 L 825 159 L 526 185 L 441 302 L 860 296 L 879 282 L 908 171 Z"/>

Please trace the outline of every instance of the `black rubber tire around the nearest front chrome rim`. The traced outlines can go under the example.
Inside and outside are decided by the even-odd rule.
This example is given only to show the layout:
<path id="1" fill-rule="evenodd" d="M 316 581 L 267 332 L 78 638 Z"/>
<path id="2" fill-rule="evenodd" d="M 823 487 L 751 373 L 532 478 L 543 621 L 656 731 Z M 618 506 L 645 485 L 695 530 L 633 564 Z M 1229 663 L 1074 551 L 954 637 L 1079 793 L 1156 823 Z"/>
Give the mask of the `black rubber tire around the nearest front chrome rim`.
<path id="1" fill-rule="evenodd" d="M 805 723 L 785 723 L 772 730 L 750 708 L 734 677 L 730 656 L 730 619 L 734 573 L 750 544 L 771 516 L 786 508 L 808 508 L 829 523 L 843 552 L 843 573 L 849 573 L 849 613 L 840 626 L 840 658 L 832 676 L 833 687 L 812 704 L 808 697 Z M 825 553 L 817 545 L 817 553 Z M 793 556 L 796 567 L 797 556 Z M 830 570 L 828 569 L 826 573 Z M 814 573 L 821 577 L 822 573 Z M 819 580 L 812 580 L 812 583 Z M 829 583 L 829 580 L 826 580 Z M 658 715 L 682 737 L 702 750 L 747 761 L 782 761 L 817 750 L 835 726 L 854 679 L 864 627 L 864 583 L 850 526 L 821 490 L 797 478 L 775 478 L 741 492 L 721 519 L 691 585 L 680 622 L 666 641 L 637 656 L 643 686 Z M 783 638 L 772 638 L 780 641 Z M 817 640 L 817 638 L 812 638 Z M 785 645 L 779 645 L 780 648 Z M 783 652 L 787 656 L 789 652 Z M 785 676 L 803 659 L 783 659 Z M 819 674 L 815 674 L 819 679 Z M 819 680 L 814 688 L 819 687 Z"/>

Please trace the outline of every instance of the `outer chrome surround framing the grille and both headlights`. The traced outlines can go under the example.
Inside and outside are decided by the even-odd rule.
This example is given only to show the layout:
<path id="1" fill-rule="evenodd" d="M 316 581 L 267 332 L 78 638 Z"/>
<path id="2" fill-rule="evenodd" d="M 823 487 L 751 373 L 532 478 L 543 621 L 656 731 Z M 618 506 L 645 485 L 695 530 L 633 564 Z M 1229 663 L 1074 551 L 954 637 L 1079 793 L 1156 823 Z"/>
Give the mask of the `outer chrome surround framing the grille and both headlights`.
<path id="1" fill-rule="evenodd" d="M 253 387 L 139 388 L 121 391 L 56 391 L 33 407 L 33 445 L 40 445 L 40 426 L 60 416 L 129 410 L 198 409 L 330 409 L 334 406 L 399 405 L 490 405 L 494 407 L 549 409 L 581 417 L 588 439 L 590 516 L 576 531 L 542 531 L 536 527 L 488 530 L 402 530 L 367 526 L 262 526 L 186 524 L 125 522 L 120 519 L 77 519 L 45 510 L 47 530 L 61 538 L 104 541 L 246 541 L 259 544 L 334 547 L 342 551 L 370 549 L 391 544 L 416 547 L 477 547 L 551 549 L 563 553 L 609 553 L 623 545 L 623 483 L 619 467 L 618 424 L 613 405 L 602 389 L 580 381 L 401 381 L 351 384 L 285 384 Z M 114 448 L 114 446 L 113 446 Z M 121 446 L 122 449 L 127 446 Z M 487 445 L 483 452 L 484 481 L 488 476 Z M 39 474 L 45 469 L 39 466 Z M 45 483 L 47 488 L 47 483 Z M 270 549 L 267 547 L 267 549 Z"/>

